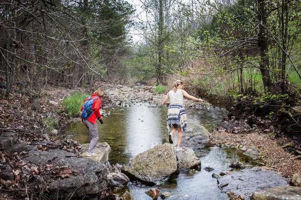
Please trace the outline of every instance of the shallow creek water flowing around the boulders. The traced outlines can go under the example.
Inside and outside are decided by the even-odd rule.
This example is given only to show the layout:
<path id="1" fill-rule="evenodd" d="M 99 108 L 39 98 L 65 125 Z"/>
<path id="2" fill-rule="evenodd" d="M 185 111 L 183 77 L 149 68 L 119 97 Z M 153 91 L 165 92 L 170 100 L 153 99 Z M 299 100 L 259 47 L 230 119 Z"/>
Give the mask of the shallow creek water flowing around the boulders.
<path id="1" fill-rule="evenodd" d="M 104 117 L 104 124 L 98 123 L 99 142 L 107 142 L 111 146 L 109 162 L 124 164 L 155 145 L 168 142 L 166 132 L 166 107 L 150 107 L 149 104 L 136 104 L 130 107 L 105 108 L 111 115 Z M 201 124 L 209 131 L 226 117 L 227 112 L 221 110 L 193 110 L 186 108 L 188 127 Z M 82 122 L 73 123 L 67 128 L 70 137 L 81 143 L 89 143 L 89 133 Z M 177 134 L 175 134 L 177 135 Z M 176 141 L 176 137 L 174 138 Z M 202 169 L 195 173 L 180 170 L 169 180 L 159 186 L 147 186 L 137 181 L 130 182 L 128 188 L 134 200 L 148 200 L 145 194 L 151 188 L 160 192 L 170 192 L 168 199 L 173 200 L 227 200 L 227 195 L 217 187 L 217 180 L 212 173 L 227 171 L 232 162 L 243 160 L 236 151 L 221 148 L 209 148 L 195 151 L 202 162 Z M 207 172 L 203 168 L 211 166 L 214 171 Z M 160 199 L 160 198 L 159 198 Z"/>

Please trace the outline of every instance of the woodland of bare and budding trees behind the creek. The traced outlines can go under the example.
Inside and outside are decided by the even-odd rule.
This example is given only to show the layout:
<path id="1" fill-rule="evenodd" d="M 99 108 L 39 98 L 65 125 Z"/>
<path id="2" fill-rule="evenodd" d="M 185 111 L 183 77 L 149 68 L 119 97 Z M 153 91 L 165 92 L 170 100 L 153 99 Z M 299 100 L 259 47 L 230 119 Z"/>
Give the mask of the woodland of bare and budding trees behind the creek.
<path id="1" fill-rule="evenodd" d="M 182 79 L 190 94 L 238 120 L 260 116 L 300 135 L 300 1 L 139 5 L 140 18 L 125 0 L 1 1 L 2 97 L 14 86 L 39 98 L 49 84 L 75 88 L 97 80 L 155 84 L 165 92 Z"/>

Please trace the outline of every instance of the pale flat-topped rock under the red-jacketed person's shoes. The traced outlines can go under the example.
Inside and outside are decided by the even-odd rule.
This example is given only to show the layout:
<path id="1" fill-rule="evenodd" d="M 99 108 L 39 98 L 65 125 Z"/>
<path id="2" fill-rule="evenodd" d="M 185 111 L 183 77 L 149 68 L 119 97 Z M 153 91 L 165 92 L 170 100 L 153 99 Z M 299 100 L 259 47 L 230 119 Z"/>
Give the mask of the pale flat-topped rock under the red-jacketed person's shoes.
<path id="1" fill-rule="evenodd" d="M 89 149 L 89 144 L 83 144 L 82 145 L 83 153 L 81 154 L 81 156 L 87 157 L 88 149 Z M 111 147 L 108 143 L 106 142 L 97 143 L 94 151 L 94 153 L 97 154 L 97 156 L 91 156 L 88 158 L 99 161 L 101 163 L 105 163 L 106 161 L 109 160 L 110 152 L 111 152 Z"/>

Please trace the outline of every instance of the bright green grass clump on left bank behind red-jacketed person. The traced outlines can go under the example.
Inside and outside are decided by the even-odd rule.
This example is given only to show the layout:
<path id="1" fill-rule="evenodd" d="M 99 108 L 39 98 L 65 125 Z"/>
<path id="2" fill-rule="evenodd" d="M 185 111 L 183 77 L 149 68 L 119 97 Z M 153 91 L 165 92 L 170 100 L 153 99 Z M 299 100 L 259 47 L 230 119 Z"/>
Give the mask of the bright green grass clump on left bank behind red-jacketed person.
<path id="1" fill-rule="evenodd" d="M 70 117 L 79 117 L 82 104 L 88 95 L 88 93 L 82 94 L 80 92 L 75 92 L 72 95 L 65 97 L 62 106 L 65 108 L 67 115 Z"/>

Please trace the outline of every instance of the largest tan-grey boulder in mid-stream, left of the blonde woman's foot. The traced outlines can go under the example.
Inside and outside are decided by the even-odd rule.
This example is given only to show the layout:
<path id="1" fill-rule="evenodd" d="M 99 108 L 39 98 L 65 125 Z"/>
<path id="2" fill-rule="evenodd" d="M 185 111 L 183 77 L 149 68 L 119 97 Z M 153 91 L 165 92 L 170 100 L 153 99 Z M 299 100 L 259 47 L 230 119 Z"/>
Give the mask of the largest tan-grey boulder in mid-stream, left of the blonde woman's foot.
<path id="1" fill-rule="evenodd" d="M 156 184 L 177 171 L 177 158 L 172 144 L 162 144 L 138 154 L 121 168 L 126 175 Z"/>

